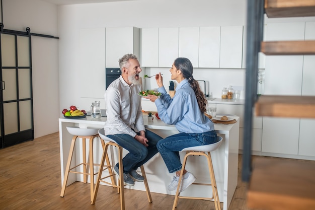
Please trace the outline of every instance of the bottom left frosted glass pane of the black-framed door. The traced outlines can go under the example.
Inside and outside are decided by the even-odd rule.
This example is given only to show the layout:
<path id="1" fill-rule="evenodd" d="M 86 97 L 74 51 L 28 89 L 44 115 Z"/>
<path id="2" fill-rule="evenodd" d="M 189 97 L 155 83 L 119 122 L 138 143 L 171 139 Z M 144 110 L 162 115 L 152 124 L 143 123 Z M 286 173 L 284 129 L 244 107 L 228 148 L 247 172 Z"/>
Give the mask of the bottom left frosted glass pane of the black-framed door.
<path id="1" fill-rule="evenodd" d="M 17 102 L 4 104 L 5 135 L 18 132 Z"/>

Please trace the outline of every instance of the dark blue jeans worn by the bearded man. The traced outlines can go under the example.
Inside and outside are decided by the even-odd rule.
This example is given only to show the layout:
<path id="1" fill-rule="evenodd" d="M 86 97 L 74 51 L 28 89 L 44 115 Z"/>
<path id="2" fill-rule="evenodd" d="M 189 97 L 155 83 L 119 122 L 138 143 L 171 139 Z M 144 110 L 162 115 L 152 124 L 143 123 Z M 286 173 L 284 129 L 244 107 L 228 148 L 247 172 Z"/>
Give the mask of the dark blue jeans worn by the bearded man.
<path id="1" fill-rule="evenodd" d="M 129 153 L 122 159 L 124 173 L 136 170 L 150 160 L 150 158 L 158 152 L 156 144 L 162 139 L 161 136 L 152 131 L 145 130 L 145 137 L 148 139 L 147 144 L 149 145 L 148 147 L 145 147 L 128 134 L 121 133 L 106 136 L 113 139 L 118 145 L 129 151 Z"/>

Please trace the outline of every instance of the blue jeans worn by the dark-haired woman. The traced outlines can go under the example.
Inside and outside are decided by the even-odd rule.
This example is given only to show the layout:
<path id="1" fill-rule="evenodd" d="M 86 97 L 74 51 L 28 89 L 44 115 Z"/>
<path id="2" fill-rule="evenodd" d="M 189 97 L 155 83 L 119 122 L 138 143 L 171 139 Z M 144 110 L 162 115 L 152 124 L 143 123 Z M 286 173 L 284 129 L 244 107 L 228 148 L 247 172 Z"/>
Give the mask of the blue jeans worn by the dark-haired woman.
<path id="1" fill-rule="evenodd" d="M 216 143 L 215 130 L 204 133 L 178 133 L 168 136 L 157 143 L 159 150 L 170 173 L 182 169 L 179 151 L 188 147 L 209 145 Z"/>

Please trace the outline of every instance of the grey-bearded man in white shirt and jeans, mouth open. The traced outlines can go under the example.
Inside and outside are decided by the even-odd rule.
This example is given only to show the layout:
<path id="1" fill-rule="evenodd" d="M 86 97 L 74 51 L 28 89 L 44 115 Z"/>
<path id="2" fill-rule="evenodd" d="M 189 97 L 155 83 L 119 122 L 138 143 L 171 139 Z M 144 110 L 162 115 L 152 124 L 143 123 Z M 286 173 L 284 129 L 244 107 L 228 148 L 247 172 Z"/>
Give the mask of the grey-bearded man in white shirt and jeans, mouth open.
<path id="1" fill-rule="evenodd" d="M 113 81 L 105 93 L 106 115 L 105 134 L 118 145 L 129 151 L 122 159 L 124 182 L 129 186 L 144 178 L 136 169 L 152 158 L 158 151 L 156 143 L 161 136 L 146 130 L 143 124 L 141 97 L 142 91 L 137 57 L 126 54 L 119 59 L 121 75 Z M 114 172 L 119 177 L 118 163 Z"/>

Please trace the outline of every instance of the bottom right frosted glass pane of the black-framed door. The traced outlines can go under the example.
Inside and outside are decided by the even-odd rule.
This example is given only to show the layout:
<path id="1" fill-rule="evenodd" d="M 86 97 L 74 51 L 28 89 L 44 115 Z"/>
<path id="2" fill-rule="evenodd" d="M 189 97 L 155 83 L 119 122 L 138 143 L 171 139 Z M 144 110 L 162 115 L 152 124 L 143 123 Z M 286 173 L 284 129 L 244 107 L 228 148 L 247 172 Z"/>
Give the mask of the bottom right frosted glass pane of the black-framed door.
<path id="1" fill-rule="evenodd" d="M 32 129 L 31 101 L 20 102 L 20 131 Z"/>

